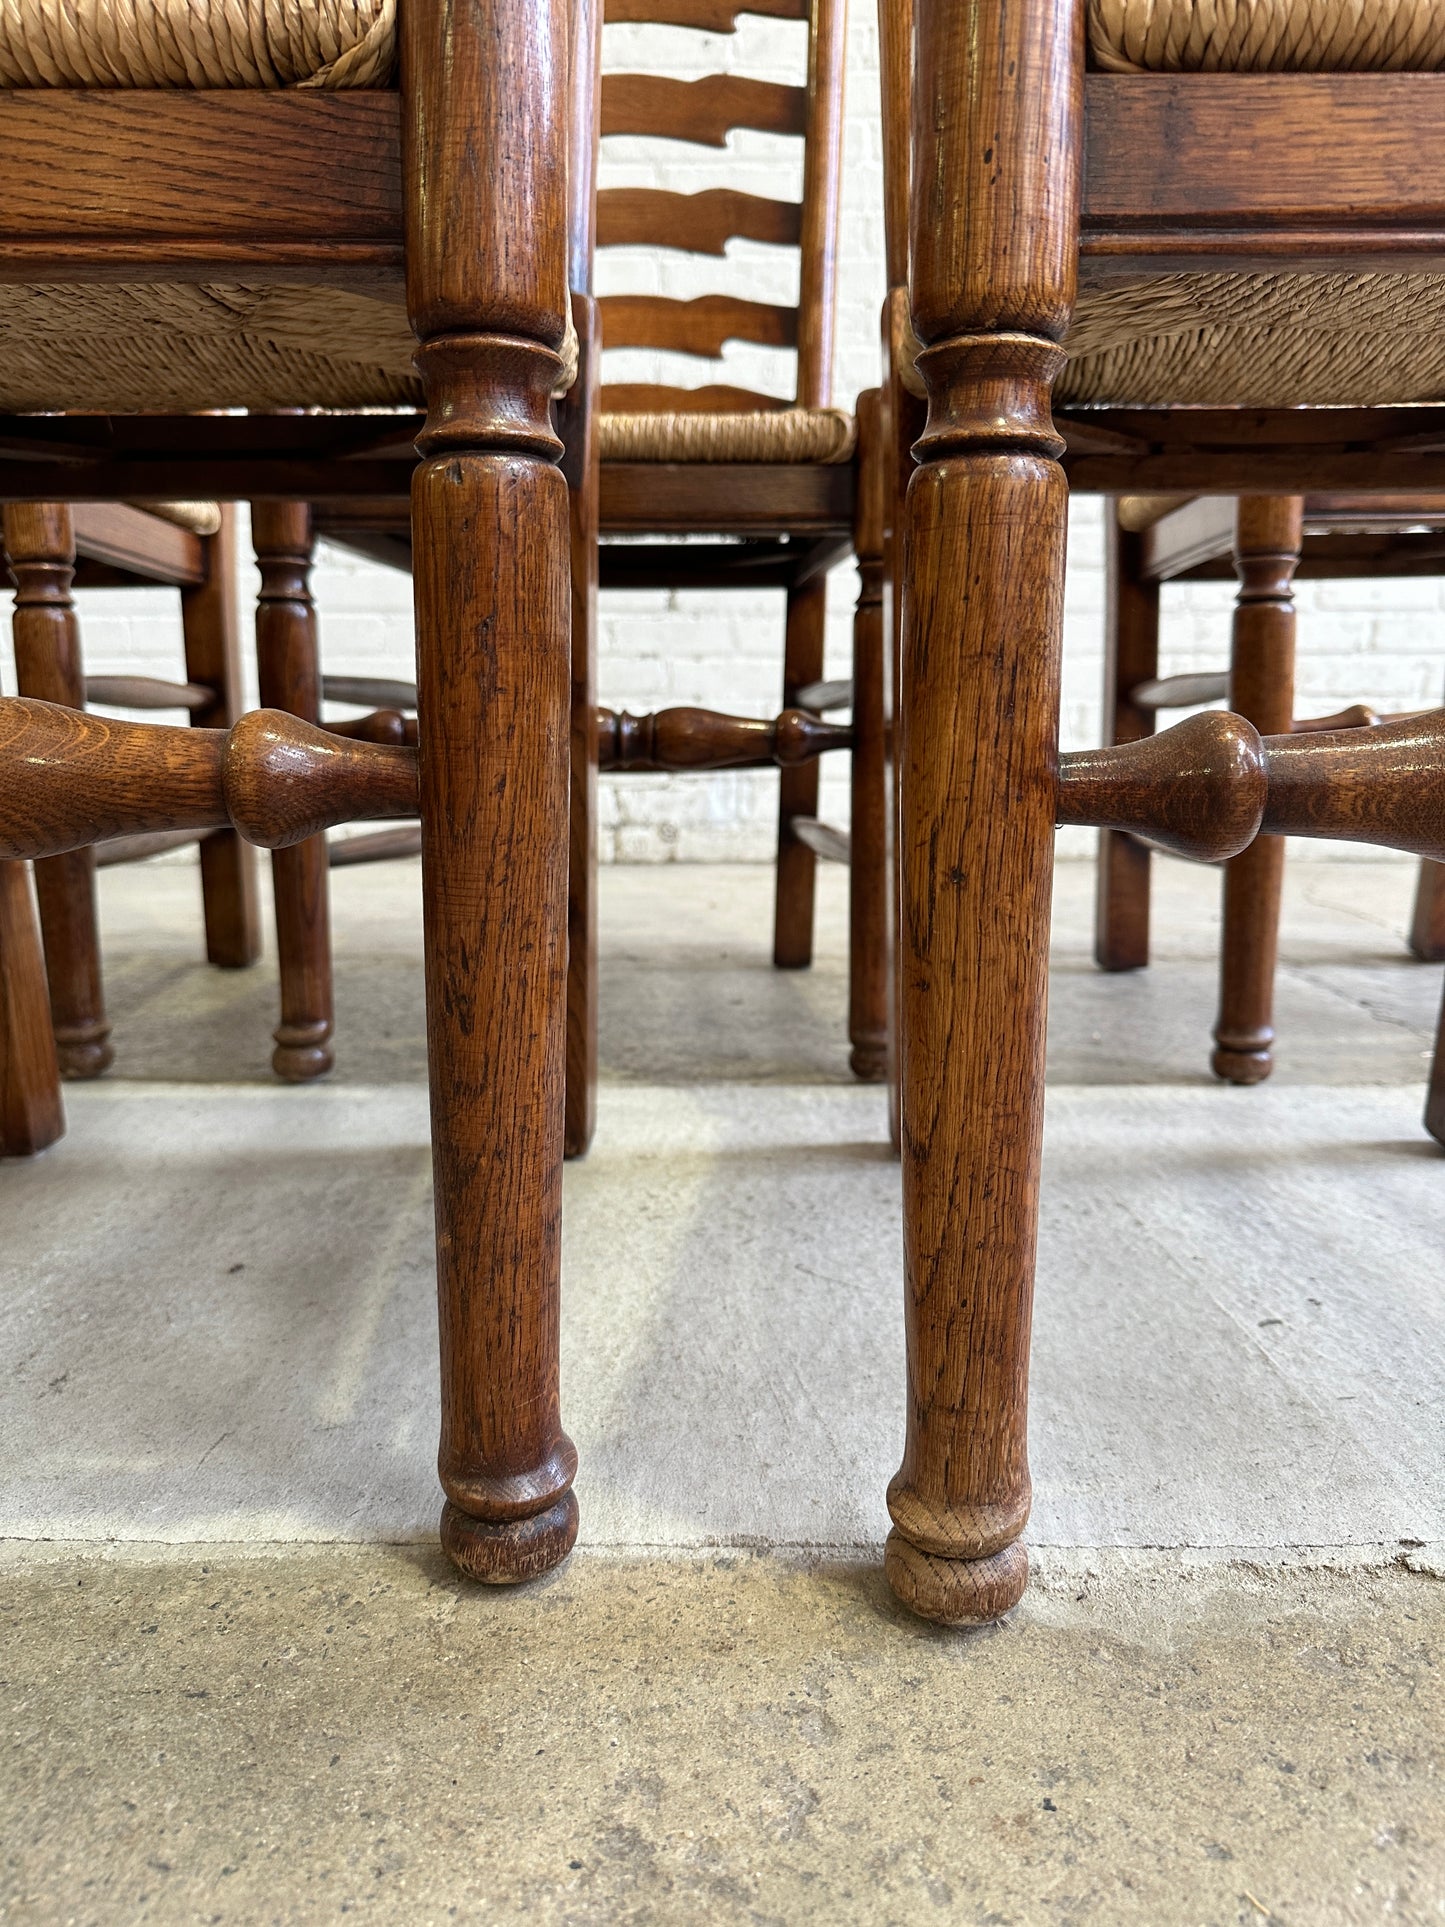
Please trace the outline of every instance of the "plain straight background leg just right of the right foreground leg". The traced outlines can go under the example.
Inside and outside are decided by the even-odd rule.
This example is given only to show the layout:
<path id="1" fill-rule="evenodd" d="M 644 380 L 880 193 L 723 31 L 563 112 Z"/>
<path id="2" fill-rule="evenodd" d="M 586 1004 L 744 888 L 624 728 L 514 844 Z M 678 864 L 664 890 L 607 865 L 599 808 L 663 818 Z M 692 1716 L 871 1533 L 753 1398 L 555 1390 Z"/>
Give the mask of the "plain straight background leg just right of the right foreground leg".
<path id="1" fill-rule="evenodd" d="M 1119 528 L 1114 503 L 1106 526 L 1108 603 L 1104 613 L 1104 742 L 1139 742 L 1154 732 L 1154 713 L 1129 692 L 1160 669 L 1160 586 L 1143 572 L 1143 540 Z M 1121 831 L 1098 834 L 1094 962 L 1100 969 L 1148 964 L 1150 852 Z"/>

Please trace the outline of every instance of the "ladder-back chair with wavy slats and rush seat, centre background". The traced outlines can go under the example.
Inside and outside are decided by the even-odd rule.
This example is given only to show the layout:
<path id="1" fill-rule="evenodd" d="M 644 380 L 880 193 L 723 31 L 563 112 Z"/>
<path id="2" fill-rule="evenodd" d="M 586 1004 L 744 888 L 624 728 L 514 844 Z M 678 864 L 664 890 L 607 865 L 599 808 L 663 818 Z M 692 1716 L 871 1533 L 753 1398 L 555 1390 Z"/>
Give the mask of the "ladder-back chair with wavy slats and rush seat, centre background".
<path id="1" fill-rule="evenodd" d="M 601 337 L 609 355 L 628 349 L 670 353 L 717 362 L 722 376 L 728 341 L 792 349 L 794 393 L 780 399 L 726 380 L 699 387 L 605 380 L 597 422 L 601 586 L 782 588 L 782 705 L 807 707 L 809 700 L 840 705 L 850 692 L 827 688 L 821 678 L 827 572 L 854 543 L 855 430 L 852 416 L 830 405 L 842 0 L 607 0 L 607 23 L 615 29 L 659 23 L 732 35 L 744 13 L 805 21 L 800 85 L 736 73 L 684 81 L 603 71 L 599 131 L 701 148 L 726 148 L 730 135 L 744 129 L 794 137 L 801 143 L 801 200 L 726 185 L 696 193 L 603 187 L 597 249 L 719 260 L 732 241 L 796 251 L 798 301 L 609 293 L 597 303 Z M 649 268 L 655 272 L 655 262 Z M 609 541 L 609 536 L 628 540 Z M 678 536 L 717 540 L 667 540 Z M 811 962 L 817 852 L 838 852 L 836 840 L 817 823 L 817 798 L 815 761 L 784 771 L 773 940 L 780 967 Z M 863 1073 L 877 1075 L 875 1069 Z"/>

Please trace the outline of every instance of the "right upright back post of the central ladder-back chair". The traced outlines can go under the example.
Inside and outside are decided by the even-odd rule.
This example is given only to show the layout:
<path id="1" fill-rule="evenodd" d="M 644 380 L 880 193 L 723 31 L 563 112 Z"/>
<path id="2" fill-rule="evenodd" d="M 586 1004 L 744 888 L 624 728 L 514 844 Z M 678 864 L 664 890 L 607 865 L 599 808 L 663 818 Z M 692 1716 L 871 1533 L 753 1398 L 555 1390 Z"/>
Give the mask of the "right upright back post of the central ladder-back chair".
<path id="1" fill-rule="evenodd" d="M 844 0 L 811 0 L 807 15 L 807 131 L 803 233 L 798 266 L 798 407 L 832 401 L 842 185 Z"/>

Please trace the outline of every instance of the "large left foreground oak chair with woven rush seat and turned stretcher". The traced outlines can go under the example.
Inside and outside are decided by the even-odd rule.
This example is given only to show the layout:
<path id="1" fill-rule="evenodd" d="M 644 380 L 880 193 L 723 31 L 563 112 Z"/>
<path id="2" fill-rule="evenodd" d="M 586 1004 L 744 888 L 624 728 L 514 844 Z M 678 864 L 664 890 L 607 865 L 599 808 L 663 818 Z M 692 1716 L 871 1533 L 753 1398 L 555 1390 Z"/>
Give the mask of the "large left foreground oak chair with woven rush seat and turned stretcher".
<path id="1" fill-rule="evenodd" d="M 96 10 L 52 44 L 37 8 L 33 58 L 0 73 L 6 495 L 410 486 L 420 773 L 407 748 L 318 746 L 293 721 L 297 744 L 266 711 L 168 730 L 15 698 L 4 850 L 223 825 L 289 844 L 420 815 L 443 1542 L 464 1571 L 516 1580 L 576 1534 L 557 1387 L 570 541 L 549 403 L 572 21 L 559 0 L 410 0 L 397 87 L 380 6 L 276 8 L 235 40 L 222 8 L 168 21 L 133 44 Z M 195 44 L 171 69 L 175 31 Z M 318 85 L 276 87 L 302 77 Z M 277 412 L 293 409 L 310 412 Z"/>

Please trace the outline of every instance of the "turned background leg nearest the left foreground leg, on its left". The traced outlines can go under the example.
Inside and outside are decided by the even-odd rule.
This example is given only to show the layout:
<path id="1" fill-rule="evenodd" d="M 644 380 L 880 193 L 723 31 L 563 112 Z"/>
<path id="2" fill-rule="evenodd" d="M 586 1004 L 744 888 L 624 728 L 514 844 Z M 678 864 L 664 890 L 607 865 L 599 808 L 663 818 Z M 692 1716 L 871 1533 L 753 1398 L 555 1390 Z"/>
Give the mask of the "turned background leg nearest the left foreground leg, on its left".
<path id="1" fill-rule="evenodd" d="M 314 538 L 302 501 L 258 501 L 250 536 L 260 568 L 256 601 L 256 669 L 268 709 L 318 723 L 322 663 L 316 605 L 310 595 Z M 281 1021 L 272 1069 L 287 1083 L 308 1083 L 331 1069 L 331 910 L 326 836 L 308 836 L 272 852 L 276 954 L 281 977 Z"/>

